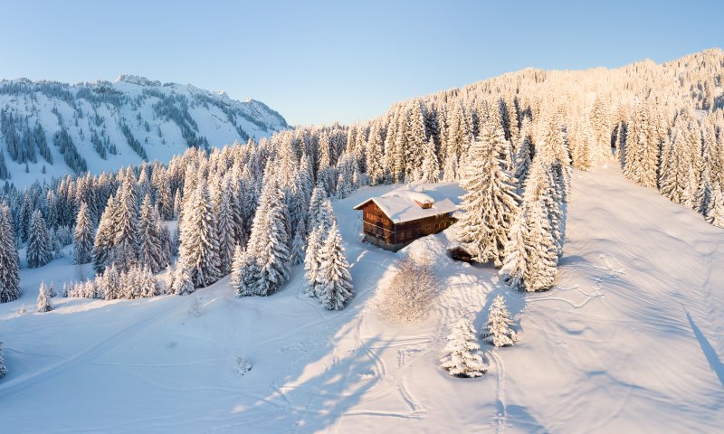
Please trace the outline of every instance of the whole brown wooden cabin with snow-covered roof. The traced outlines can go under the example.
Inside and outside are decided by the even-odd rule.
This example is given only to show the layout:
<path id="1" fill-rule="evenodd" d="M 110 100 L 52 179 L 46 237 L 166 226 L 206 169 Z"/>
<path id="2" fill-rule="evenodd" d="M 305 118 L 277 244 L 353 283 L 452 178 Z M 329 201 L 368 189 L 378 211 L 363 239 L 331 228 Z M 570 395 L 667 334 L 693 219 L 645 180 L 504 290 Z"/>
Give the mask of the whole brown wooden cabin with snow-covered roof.
<path id="1" fill-rule="evenodd" d="M 450 227 L 457 206 L 447 198 L 435 202 L 425 193 L 403 189 L 371 197 L 354 209 L 362 211 L 365 241 L 396 251 Z"/>

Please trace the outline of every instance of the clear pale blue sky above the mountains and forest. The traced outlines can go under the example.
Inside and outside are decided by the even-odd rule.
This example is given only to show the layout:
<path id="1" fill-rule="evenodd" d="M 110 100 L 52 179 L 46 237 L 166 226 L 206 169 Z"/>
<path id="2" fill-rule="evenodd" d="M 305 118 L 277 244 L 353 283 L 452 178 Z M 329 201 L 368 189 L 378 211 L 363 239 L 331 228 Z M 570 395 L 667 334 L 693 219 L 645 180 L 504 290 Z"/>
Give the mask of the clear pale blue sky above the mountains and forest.
<path id="1" fill-rule="evenodd" d="M 131 73 L 259 99 L 291 124 L 372 118 L 528 66 L 616 67 L 724 46 L 722 0 L 0 0 L 0 15 L 0 78 Z"/>

